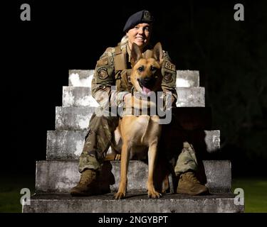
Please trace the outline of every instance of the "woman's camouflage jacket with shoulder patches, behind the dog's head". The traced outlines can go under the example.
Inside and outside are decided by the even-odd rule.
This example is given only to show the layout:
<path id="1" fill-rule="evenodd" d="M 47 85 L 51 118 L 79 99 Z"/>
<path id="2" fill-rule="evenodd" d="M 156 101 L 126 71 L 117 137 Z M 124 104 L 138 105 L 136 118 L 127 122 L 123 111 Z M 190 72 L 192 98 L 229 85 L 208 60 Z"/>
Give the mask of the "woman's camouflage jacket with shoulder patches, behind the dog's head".
<path id="1" fill-rule="evenodd" d="M 129 93 L 132 87 L 130 83 L 130 50 L 128 48 L 120 49 L 120 58 L 125 58 L 125 65 L 116 63 L 117 50 L 116 48 L 107 48 L 101 55 L 95 66 L 95 72 L 92 80 L 92 95 L 100 106 L 120 105 L 125 94 Z M 145 57 L 151 50 L 145 50 Z M 164 51 L 164 61 L 162 63 L 162 91 L 172 92 L 172 106 L 175 106 L 177 101 L 176 92 L 176 69 L 172 64 L 169 55 Z M 119 66 L 118 66 L 119 65 Z M 111 89 L 115 86 L 115 89 Z"/>

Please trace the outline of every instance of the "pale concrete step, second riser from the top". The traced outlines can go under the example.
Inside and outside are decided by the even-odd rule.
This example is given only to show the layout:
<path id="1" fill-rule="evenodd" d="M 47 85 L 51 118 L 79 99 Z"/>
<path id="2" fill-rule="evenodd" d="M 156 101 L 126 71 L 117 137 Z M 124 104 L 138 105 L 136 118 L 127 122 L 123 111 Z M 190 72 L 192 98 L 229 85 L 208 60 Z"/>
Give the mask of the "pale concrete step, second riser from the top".
<path id="1" fill-rule="evenodd" d="M 176 106 L 205 106 L 204 87 L 177 87 Z M 63 87 L 62 106 L 99 106 L 91 95 L 90 87 Z"/>

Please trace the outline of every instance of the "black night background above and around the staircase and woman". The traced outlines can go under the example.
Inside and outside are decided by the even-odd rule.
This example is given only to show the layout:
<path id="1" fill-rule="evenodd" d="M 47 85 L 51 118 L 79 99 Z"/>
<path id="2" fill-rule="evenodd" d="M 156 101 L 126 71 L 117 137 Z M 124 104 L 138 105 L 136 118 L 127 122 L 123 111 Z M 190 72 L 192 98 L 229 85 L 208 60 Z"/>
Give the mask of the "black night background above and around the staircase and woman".
<path id="1" fill-rule="evenodd" d="M 31 21 L 20 20 L 23 3 Z M 245 21 L 234 20 L 237 3 Z M 36 160 L 46 160 L 46 131 L 55 130 L 68 70 L 94 69 L 124 35 L 127 18 L 147 9 L 156 19 L 152 43 L 161 41 L 177 70 L 199 70 L 213 128 L 221 131 L 221 157 L 232 161 L 234 176 L 266 175 L 264 1 L 17 1 L 10 9 L 2 34 L 8 118 L 1 173 L 34 175 Z"/>

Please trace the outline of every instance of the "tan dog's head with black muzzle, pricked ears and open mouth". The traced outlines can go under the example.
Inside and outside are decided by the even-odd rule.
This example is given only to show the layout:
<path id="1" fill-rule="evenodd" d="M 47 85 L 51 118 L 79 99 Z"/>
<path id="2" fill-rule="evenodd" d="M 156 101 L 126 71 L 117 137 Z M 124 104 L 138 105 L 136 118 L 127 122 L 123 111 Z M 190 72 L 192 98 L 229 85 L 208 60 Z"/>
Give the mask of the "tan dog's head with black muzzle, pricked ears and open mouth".
<path id="1" fill-rule="evenodd" d="M 153 49 L 152 57 L 143 58 L 140 48 L 132 43 L 131 64 L 132 85 L 142 94 L 150 95 L 151 92 L 157 92 L 162 84 L 162 45 L 157 43 Z"/>

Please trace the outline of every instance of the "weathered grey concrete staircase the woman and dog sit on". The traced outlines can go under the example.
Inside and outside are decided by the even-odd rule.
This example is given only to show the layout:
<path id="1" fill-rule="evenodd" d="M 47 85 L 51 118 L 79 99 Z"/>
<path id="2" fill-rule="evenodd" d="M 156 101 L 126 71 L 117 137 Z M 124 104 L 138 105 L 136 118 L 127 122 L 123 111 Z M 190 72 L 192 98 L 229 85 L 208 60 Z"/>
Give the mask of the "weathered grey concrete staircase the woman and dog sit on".
<path id="1" fill-rule="evenodd" d="M 90 95 L 93 70 L 70 70 L 69 86 L 63 87 L 63 106 L 56 106 L 56 131 L 47 133 L 46 160 L 36 163 L 36 194 L 23 212 L 244 212 L 235 205 L 231 190 L 231 162 L 204 160 L 206 186 L 211 195 L 188 196 L 174 194 L 177 180 L 169 172 L 157 187 L 166 192 L 160 199 L 148 199 L 146 194 L 147 164 L 131 160 L 128 171 L 127 198 L 115 200 L 120 178 L 120 162 L 105 161 L 100 174 L 105 194 L 72 197 L 70 188 L 80 179 L 78 157 L 83 150 L 90 116 L 98 104 Z M 211 111 L 205 107 L 205 89 L 199 87 L 198 71 L 177 71 L 177 133 L 166 135 L 177 140 L 180 127 L 194 132 L 201 140 L 204 153 L 220 148 L 220 132 L 211 130 Z M 192 134 L 192 133 L 191 133 Z M 191 135 L 190 134 L 190 135 Z M 200 136 L 201 135 L 201 136 Z M 201 138 L 201 139 L 199 139 Z M 173 149 L 169 143 L 166 149 Z M 156 175 L 159 176 L 161 169 Z"/>

